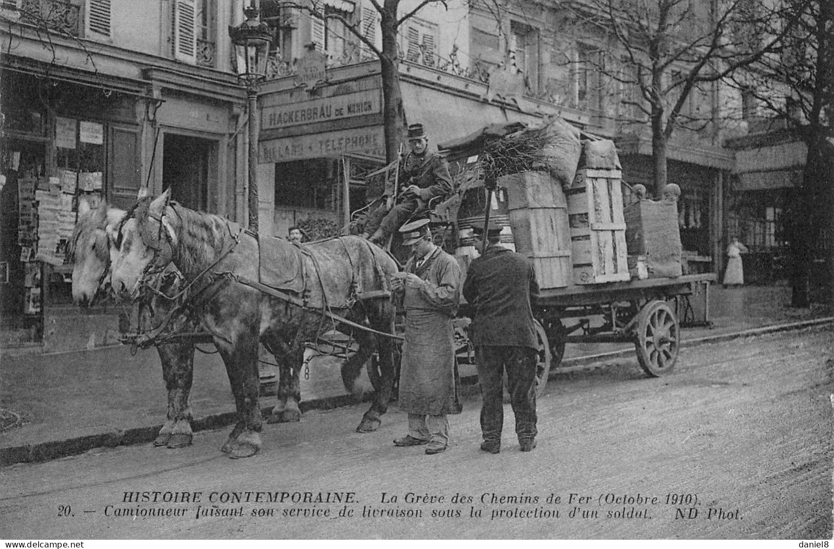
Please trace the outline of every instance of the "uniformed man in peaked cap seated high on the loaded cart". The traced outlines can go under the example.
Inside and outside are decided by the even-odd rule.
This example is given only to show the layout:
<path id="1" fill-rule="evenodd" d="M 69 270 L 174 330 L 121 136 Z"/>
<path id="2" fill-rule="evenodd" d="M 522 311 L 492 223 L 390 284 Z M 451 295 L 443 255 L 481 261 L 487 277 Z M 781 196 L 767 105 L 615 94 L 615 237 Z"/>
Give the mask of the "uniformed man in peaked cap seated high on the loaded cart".
<path id="1" fill-rule="evenodd" d="M 385 189 L 384 204 L 371 212 L 365 224 L 362 236 L 371 242 L 384 242 L 414 212 L 429 204 L 430 199 L 452 192 L 449 164 L 440 154 L 429 150 L 429 138 L 423 124 L 409 125 L 409 146 L 411 152 L 399 168 L 399 196 L 394 196 L 392 181 L 390 187 Z"/>

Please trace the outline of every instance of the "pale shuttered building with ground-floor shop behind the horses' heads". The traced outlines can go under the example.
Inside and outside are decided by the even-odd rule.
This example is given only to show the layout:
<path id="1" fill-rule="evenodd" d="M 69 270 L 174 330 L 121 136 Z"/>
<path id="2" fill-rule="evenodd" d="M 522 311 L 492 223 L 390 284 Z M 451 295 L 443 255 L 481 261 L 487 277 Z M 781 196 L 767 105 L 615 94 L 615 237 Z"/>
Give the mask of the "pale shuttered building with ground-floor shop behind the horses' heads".
<path id="1" fill-rule="evenodd" d="M 127 208 L 147 185 L 241 218 L 245 94 L 226 28 L 242 3 L 13 0 L 0 18 L 0 345 L 114 343 L 120 308 L 71 303 L 78 204 Z"/>

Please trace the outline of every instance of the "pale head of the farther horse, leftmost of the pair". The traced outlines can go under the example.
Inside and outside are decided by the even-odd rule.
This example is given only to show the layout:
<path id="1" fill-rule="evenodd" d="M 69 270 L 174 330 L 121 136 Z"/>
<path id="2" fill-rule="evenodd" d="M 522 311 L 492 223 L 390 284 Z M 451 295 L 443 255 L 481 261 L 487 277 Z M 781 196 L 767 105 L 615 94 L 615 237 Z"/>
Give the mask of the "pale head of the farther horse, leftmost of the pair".
<path id="1" fill-rule="evenodd" d="M 126 212 L 102 203 L 90 209 L 87 202 L 78 204 L 78 223 L 68 249 L 73 261 L 73 301 L 93 305 L 106 284 L 110 269 L 111 242 L 108 227 L 117 225 Z"/>

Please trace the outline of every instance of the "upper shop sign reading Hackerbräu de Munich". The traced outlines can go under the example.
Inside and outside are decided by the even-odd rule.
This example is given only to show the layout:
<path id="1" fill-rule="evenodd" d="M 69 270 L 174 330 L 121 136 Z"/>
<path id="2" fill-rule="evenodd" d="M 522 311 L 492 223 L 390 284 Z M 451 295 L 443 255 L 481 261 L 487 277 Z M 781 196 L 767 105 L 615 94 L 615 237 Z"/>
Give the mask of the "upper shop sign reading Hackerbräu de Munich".
<path id="1" fill-rule="evenodd" d="M 369 89 L 299 103 L 265 106 L 261 110 L 261 129 L 289 128 L 306 123 L 381 113 L 380 93 L 379 89 Z"/>

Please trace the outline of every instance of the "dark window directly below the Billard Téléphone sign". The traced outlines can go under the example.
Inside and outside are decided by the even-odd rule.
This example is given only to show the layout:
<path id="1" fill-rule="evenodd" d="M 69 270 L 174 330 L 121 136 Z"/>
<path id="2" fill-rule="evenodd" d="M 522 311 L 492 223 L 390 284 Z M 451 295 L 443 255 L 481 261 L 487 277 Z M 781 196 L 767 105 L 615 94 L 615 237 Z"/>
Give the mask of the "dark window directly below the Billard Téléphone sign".
<path id="1" fill-rule="evenodd" d="M 338 161 L 309 159 L 275 166 L 275 205 L 334 209 L 338 188 Z"/>

